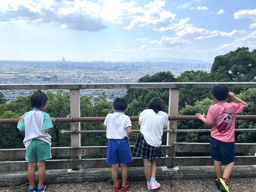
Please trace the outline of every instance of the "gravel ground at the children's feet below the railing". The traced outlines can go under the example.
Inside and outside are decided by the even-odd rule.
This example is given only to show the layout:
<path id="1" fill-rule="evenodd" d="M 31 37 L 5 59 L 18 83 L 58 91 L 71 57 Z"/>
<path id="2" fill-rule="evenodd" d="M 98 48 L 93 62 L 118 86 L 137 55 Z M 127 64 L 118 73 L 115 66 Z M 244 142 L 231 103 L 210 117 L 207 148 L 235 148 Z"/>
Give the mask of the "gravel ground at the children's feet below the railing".
<path id="1" fill-rule="evenodd" d="M 156 192 L 217 192 L 212 179 L 200 180 L 169 180 L 159 181 L 161 187 Z M 230 192 L 256 192 L 256 178 L 231 178 L 229 180 Z M 48 185 L 46 192 L 112 192 L 112 185 L 104 182 L 82 184 L 54 184 Z M 145 182 L 131 182 L 128 191 L 130 192 L 150 192 L 146 188 Z M 10 188 L 0 188 L 0 192 L 14 192 Z"/>

